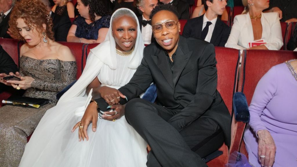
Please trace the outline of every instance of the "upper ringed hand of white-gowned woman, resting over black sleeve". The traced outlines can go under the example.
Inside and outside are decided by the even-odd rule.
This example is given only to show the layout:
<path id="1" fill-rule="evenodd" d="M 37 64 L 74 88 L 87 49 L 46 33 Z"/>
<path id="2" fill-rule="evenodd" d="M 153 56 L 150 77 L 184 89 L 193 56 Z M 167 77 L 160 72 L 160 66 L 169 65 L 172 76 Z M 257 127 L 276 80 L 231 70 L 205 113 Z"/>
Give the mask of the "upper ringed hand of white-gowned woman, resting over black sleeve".
<path id="1" fill-rule="evenodd" d="M 108 86 L 102 86 L 98 90 L 101 97 L 108 103 L 109 105 L 119 104 L 121 97 L 125 98 L 125 96 L 119 92 L 117 89 L 110 88 Z"/>

